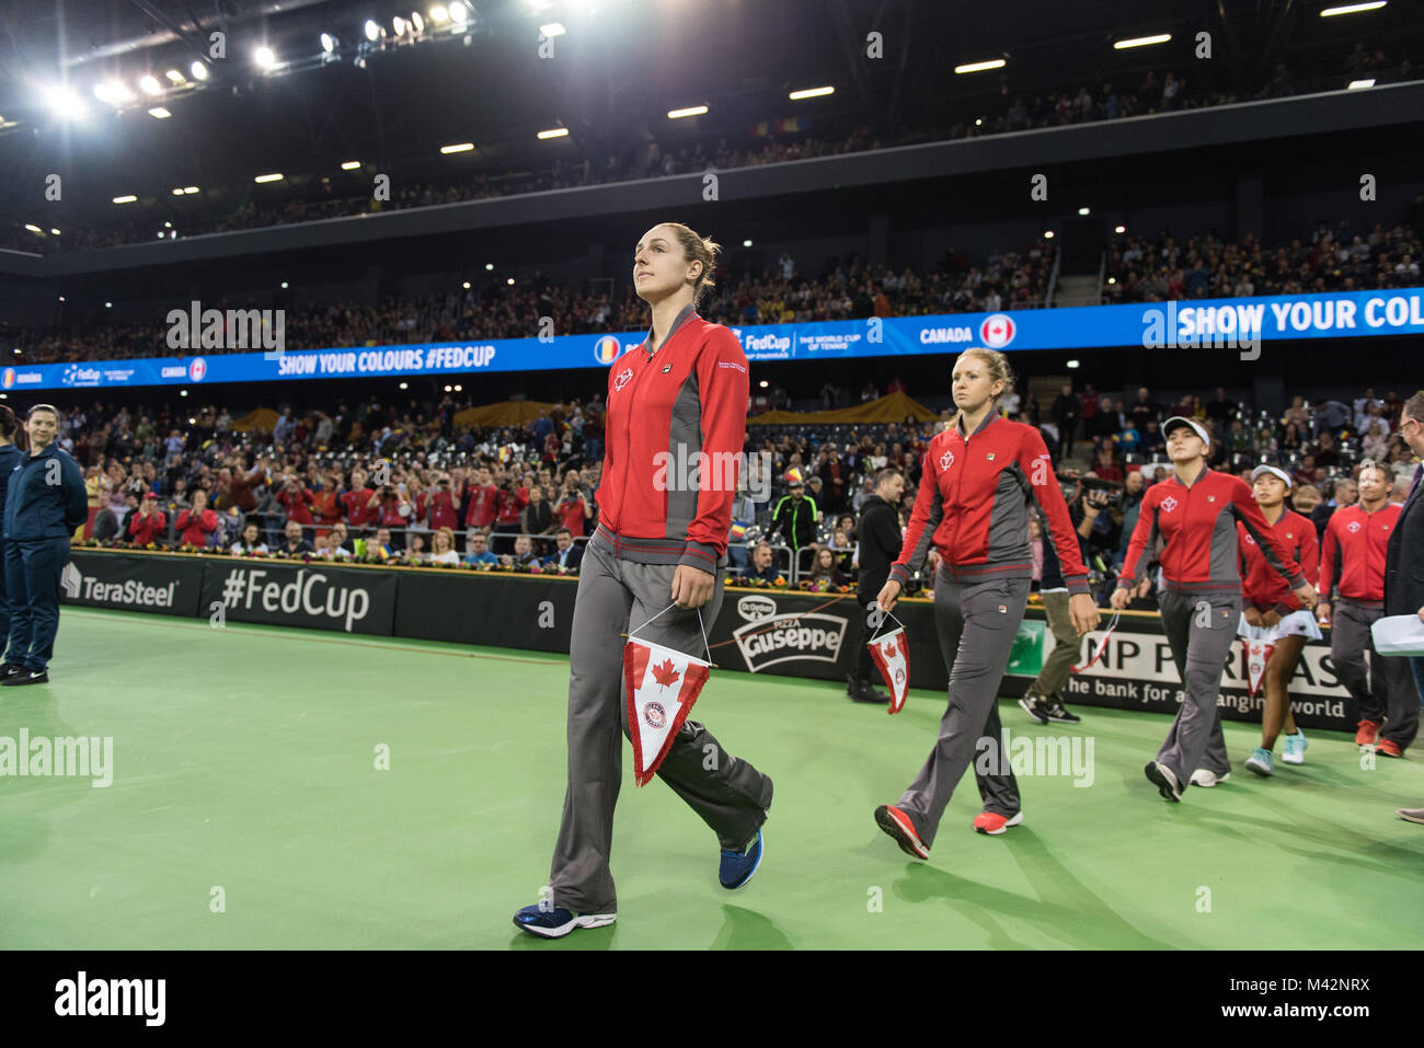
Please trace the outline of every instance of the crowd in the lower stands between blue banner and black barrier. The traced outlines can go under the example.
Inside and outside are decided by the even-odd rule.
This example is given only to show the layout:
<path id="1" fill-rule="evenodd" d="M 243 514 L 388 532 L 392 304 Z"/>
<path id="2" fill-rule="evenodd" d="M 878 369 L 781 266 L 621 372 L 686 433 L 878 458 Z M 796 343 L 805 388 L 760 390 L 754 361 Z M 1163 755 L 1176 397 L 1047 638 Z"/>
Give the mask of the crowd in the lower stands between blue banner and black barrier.
<path id="1" fill-rule="evenodd" d="M 1158 403 L 1148 389 L 1118 396 L 1088 383 L 1065 387 L 1047 407 L 1018 394 L 1001 407 L 1038 427 L 1059 468 L 1121 486 L 1098 505 L 1065 483 L 1104 591 L 1126 552 L 1142 493 L 1171 473 L 1162 423 L 1173 414 L 1212 433 L 1213 468 L 1243 478 L 1262 461 L 1287 470 L 1296 481 L 1292 505 L 1320 531 L 1357 497 L 1363 461 L 1393 470 L 1396 497 L 1415 467 L 1397 433 L 1403 399 L 1393 390 L 1314 404 L 1297 396 L 1279 416 L 1223 389 L 1205 402 L 1193 394 Z M 285 410 L 271 434 L 242 434 L 224 409 L 206 407 L 188 426 L 167 406 L 150 416 L 94 403 L 64 413 L 60 444 L 85 473 L 85 537 L 94 543 L 577 571 L 598 521 L 601 399 L 558 404 L 524 427 L 498 430 L 457 429 L 456 409 L 449 397 L 430 410 L 373 399 L 332 413 Z M 750 427 L 729 534 L 732 574 L 752 585 L 853 588 L 856 527 L 876 473 L 903 471 L 903 527 L 920 459 L 943 424 Z M 933 577 L 930 564 L 918 587 Z"/>

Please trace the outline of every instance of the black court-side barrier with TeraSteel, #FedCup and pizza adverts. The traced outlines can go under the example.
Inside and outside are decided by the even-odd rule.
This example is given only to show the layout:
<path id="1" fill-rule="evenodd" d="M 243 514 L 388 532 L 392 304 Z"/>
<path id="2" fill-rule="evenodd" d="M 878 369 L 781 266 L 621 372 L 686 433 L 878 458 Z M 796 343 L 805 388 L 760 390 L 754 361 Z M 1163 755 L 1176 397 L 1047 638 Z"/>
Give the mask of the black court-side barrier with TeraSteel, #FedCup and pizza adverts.
<path id="1" fill-rule="evenodd" d="M 64 570 L 63 595 L 66 604 L 214 622 L 225 617 L 235 622 L 567 652 L 577 587 L 577 578 L 547 575 L 74 550 Z M 931 602 L 903 599 L 896 617 L 910 638 L 911 686 L 944 689 L 948 675 Z M 853 594 L 728 588 L 716 622 L 708 624 L 712 658 L 721 669 L 837 685 L 844 682 L 856 645 L 864 644 L 867 635 L 864 609 Z M 1089 662 L 1102 642 L 1101 629 L 1089 634 L 1078 664 Z M 1030 604 L 1001 693 L 1022 695 L 1052 644 L 1042 608 Z M 843 691 L 827 689 L 827 696 Z M 1353 703 L 1336 676 L 1327 641 L 1306 645 L 1290 693 L 1302 728 L 1354 729 Z M 1125 612 L 1102 656 L 1068 681 L 1065 698 L 1084 706 L 1175 716 L 1180 685 L 1158 615 Z M 1222 716 L 1259 722 L 1263 702 L 1262 692 L 1249 693 L 1246 652 L 1237 644 L 1222 678 Z"/>

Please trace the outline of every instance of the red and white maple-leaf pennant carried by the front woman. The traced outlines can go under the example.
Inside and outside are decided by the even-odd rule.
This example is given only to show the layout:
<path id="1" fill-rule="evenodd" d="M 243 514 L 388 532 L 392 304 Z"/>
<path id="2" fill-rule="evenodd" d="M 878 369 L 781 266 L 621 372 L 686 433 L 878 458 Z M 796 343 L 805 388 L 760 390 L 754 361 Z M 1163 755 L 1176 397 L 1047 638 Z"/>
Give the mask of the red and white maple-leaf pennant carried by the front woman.
<path id="1" fill-rule="evenodd" d="M 629 638 L 624 646 L 628 733 L 639 786 L 656 775 L 711 672 L 711 664 L 661 644 Z"/>

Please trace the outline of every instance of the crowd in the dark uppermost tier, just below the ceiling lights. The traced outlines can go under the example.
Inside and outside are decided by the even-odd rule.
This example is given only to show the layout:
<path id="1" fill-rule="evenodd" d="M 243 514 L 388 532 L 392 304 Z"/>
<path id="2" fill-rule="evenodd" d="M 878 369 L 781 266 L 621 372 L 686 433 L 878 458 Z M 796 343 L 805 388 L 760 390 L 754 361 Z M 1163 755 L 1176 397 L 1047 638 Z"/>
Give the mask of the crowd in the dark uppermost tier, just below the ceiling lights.
<path id="1" fill-rule="evenodd" d="M 1415 71 L 1407 60 L 1394 64 L 1381 50 L 1370 50 L 1357 43 L 1341 63 L 1341 74 L 1388 83 L 1411 80 Z M 355 178 L 346 182 L 350 189 L 343 189 L 340 177 L 333 182 L 330 177 L 298 175 L 289 184 L 306 188 L 288 191 L 296 195 L 281 202 L 259 204 L 242 194 L 242 202 L 236 206 L 222 214 L 211 214 L 211 209 L 204 209 L 201 197 L 194 201 L 184 198 L 177 205 L 159 197 L 158 209 L 142 215 L 124 215 L 120 222 L 104 228 L 71 228 L 61 236 L 31 234 L 23 228 L 21 219 L 7 231 L 0 246 L 41 253 L 91 251 L 122 243 L 148 243 L 172 234 L 194 236 L 571 187 L 701 174 L 708 169 L 726 171 L 879 150 L 887 145 L 977 138 L 1010 131 L 1226 105 L 1252 98 L 1280 98 L 1297 93 L 1286 64 L 1277 64 L 1256 91 L 1215 90 L 1202 85 L 1199 80 L 1199 74 L 1189 68 L 1162 70 L 1161 75 L 1156 70 L 1149 70 L 1135 85 L 1101 81 L 1092 85 L 1081 84 L 1077 91 L 1021 91 L 1001 74 L 994 103 L 985 105 L 978 97 L 960 100 L 953 104 L 953 111 L 937 114 L 933 125 L 906 128 L 884 142 L 864 124 L 852 127 L 843 137 L 827 140 L 813 137 L 796 121 L 776 121 L 769 122 L 762 134 L 752 134 L 743 142 L 729 144 L 726 137 L 721 137 L 715 145 L 709 138 L 692 147 L 674 150 L 665 148 L 655 135 L 642 128 L 622 158 L 608 155 L 602 165 L 591 158 L 585 158 L 581 164 L 555 159 L 538 171 L 511 168 L 481 172 L 466 182 L 446 185 L 409 182 L 402 185 L 402 179 L 396 178 L 389 201 L 372 199 L 365 188 L 362 192 L 353 192 Z M 1344 87 L 1343 83 L 1336 83 L 1337 80 L 1339 77 L 1306 87 L 1307 90 Z M 360 172 L 362 179 L 365 175 L 366 172 Z M 232 194 L 226 197 L 231 198 Z M 165 222 L 168 225 L 164 225 Z"/>

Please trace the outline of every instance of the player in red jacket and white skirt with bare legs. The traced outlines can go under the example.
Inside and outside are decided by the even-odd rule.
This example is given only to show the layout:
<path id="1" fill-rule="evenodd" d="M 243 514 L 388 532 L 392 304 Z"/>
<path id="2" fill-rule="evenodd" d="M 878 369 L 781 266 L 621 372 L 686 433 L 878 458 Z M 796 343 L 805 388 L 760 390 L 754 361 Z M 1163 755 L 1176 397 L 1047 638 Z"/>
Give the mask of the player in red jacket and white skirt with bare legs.
<path id="1" fill-rule="evenodd" d="M 1306 578 L 1316 578 L 1320 571 L 1320 543 L 1316 540 L 1316 525 L 1299 513 L 1286 508 L 1286 496 L 1293 481 L 1290 474 L 1274 466 L 1257 466 L 1250 474 L 1252 494 L 1262 517 L 1286 547 L 1286 552 L 1300 565 Z M 1320 639 L 1320 627 L 1314 615 L 1306 611 L 1280 575 L 1272 570 L 1256 540 L 1245 525 L 1236 525 L 1237 548 L 1242 558 L 1242 619 L 1247 627 L 1270 631 L 1274 651 L 1266 662 L 1265 686 L 1266 708 L 1260 716 L 1260 746 L 1246 758 L 1246 767 L 1260 776 L 1274 773 L 1276 736 L 1286 732 L 1282 759 L 1287 765 L 1306 763 L 1306 735 L 1296 728 L 1290 712 L 1290 678 L 1300 665 L 1300 652 L 1306 641 Z M 1256 638 L 1252 638 L 1256 639 Z M 1208 769 L 1192 773 L 1196 786 L 1215 786 L 1216 777 Z"/>

